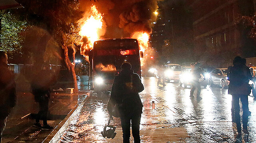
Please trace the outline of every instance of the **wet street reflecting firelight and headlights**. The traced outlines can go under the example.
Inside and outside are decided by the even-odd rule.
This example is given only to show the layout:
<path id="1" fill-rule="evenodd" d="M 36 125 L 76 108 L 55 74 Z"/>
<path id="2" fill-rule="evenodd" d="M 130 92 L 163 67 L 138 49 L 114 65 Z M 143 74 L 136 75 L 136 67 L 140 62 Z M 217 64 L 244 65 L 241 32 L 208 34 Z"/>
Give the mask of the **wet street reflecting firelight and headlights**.
<path id="1" fill-rule="evenodd" d="M 218 86 L 202 88 L 202 100 L 190 98 L 187 89 L 176 83 L 157 86 L 155 77 L 142 77 L 145 90 L 140 93 L 144 105 L 140 136 L 142 143 L 232 143 L 236 126 L 231 120 L 231 95 Z M 195 91 L 196 92 L 196 91 Z M 195 93 L 194 93 L 195 95 Z M 107 95 L 91 95 L 79 116 L 59 140 L 60 143 L 122 143 L 120 119 L 114 118 L 116 137 L 103 138 L 101 131 L 109 114 Z M 256 104 L 248 97 L 251 116 L 248 121 L 249 142 L 256 142 Z M 240 115 L 241 112 L 240 112 Z M 131 142 L 133 138 L 131 137 Z"/>

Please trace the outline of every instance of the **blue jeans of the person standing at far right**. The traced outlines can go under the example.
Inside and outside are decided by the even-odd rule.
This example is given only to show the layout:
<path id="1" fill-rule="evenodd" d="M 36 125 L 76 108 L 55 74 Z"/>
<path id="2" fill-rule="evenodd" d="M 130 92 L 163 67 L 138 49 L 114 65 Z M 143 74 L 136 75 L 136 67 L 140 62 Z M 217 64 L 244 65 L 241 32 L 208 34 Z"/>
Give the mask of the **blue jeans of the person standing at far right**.
<path id="1" fill-rule="evenodd" d="M 242 109 L 243 109 L 243 115 L 242 115 L 243 129 L 247 130 L 248 114 L 249 114 L 248 95 L 232 95 L 233 119 L 234 119 L 234 122 L 237 124 L 237 132 L 241 133 L 242 129 L 241 129 L 241 119 L 239 114 L 240 113 L 239 99 L 242 102 Z"/>

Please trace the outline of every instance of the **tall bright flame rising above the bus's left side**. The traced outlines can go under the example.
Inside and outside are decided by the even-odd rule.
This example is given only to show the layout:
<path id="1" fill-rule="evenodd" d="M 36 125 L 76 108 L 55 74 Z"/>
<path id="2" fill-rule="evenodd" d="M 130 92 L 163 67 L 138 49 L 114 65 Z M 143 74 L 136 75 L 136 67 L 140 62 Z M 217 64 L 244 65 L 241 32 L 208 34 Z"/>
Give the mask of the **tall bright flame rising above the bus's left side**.
<path id="1" fill-rule="evenodd" d="M 79 35 L 84 39 L 82 40 L 83 45 L 81 46 L 81 54 L 84 56 L 86 50 L 93 49 L 93 43 L 100 38 L 100 33 L 103 26 L 103 15 L 98 12 L 96 6 L 91 7 L 91 11 L 88 18 L 85 18 L 84 22 L 81 22 L 81 30 Z M 86 43 L 85 43 L 86 42 Z"/>

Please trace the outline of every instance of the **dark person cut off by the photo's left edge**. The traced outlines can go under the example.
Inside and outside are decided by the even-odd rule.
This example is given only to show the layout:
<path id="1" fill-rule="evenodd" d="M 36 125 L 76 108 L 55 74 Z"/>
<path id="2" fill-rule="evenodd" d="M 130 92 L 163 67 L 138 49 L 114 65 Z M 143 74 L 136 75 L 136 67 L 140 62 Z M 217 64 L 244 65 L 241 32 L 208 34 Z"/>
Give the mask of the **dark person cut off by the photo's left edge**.
<path id="1" fill-rule="evenodd" d="M 0 51 L 0 143 L 7 117 L 16 104 L 16 84 L 7 65 L 7 54 Z"/>

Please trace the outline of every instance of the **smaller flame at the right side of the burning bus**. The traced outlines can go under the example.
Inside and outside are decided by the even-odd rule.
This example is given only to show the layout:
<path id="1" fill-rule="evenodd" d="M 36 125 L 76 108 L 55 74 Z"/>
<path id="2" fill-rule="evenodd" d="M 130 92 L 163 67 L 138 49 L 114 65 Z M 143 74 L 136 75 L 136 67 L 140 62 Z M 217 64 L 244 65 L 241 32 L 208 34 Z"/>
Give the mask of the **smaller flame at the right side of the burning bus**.
<path id="1" fill-rule="evenodd" d="M 136 32 L 132 35 L 132 38 L 138 40 L 138 44 L 140 47 L 140 51 L 145 52 L 145 50 L 149 47 L 149 34 L 145 32 Z M 144 66 L 146 61 L 145 58 L 140 58 L 141 66 Z"/>

